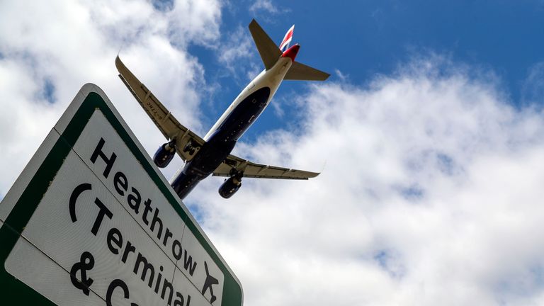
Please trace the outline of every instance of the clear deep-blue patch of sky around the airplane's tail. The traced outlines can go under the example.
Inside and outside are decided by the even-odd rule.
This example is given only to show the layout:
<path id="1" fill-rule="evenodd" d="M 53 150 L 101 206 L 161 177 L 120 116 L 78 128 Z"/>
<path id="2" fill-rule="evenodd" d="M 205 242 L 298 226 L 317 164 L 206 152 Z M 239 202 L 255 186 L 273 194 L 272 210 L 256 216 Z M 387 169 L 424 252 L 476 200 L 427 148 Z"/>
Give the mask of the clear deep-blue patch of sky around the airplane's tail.
<path id="1" fill-rule="evenodd" d="M 376 75 L 394 73 L 412 57 L 438 54 L 470 65 L 475 74 L 496 74 L 515 106 L 543 101 L 526 86 L 531 69 L 544 60 L 542 1 L 312 1 L 311 5 L 274 1 L 272 10 L 246 9 L 251 6 L 252 1 L 227 4 L 222 11 L 222 40 L 256 18 L 279 42 L 295 23 L 294 42 L 302 45 L 297 60 L 331 73 L 332 81 L 339 79 L 338 71 L 348 83 L 364 86 Z M 249 51 L 239 59 L 240 66 L 245 67 L 246 61 L 260 64 L 256 50 Z M 210 97 L 217 108 L 203 110 L 207 120 L 215 120 L 249 76 L 243 75 L 244 70 L 227 71 L 217 61 L 217 50 L 193 45 L 189 52 L 204 65 L 206 80 L 221 86 Z M 290 99 L 308 85 L 285 82 L 276 94 L 285 115 L 264 113 L 246 140 L 290 124 L 295 112 Z"/>

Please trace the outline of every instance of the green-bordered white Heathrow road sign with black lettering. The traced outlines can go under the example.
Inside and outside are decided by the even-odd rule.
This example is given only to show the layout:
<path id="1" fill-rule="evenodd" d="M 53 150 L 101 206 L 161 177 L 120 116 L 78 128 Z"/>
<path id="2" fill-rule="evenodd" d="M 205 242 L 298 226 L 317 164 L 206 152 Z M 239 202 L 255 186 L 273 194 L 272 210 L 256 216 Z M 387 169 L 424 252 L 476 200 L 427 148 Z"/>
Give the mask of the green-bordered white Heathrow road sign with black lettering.
<path id="1" fill-rule="evenodd" d="M 0 203 L 0 246 L 6 305 L 242 305 L 239 280 L 93 84 Z"/>

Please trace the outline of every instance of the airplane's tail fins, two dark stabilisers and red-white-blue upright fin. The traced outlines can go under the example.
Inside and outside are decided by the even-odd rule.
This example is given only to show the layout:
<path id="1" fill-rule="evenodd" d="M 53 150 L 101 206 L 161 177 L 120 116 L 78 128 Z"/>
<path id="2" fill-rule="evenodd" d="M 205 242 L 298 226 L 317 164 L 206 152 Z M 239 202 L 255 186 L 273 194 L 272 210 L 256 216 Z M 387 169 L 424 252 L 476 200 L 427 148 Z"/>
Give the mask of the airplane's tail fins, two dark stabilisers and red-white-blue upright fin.
<path id="1" fill-rule="evenodd" d="M 285 36 L 283 37 L 280 46 L 277 47 L 273 40 L 266 34 L 266 32 L 259 26 L 254 20 L 249 23 L 249 31 L 255 42 L 257 50 L 259 50 L 259 55 L 261 55 L 261 60 L 263 60 L 264 67 L 268 70 L 273 67 L 274 64 L 278 61 L 278 58 L 281 57 L 285 52 L 289 50 L 289 44 L 293 40 L 293 31 L 295 30 L 295 25 L 293 25 Z M 294 57 L 293 57 L 294 58 Z M 283 79 L 289 80 L 305 80 L 305 81 L 324 81 L 330 74 L 327 72 L 322 72 L 300 62 L 294 62 L 291 65 L 287 74 Z"/>

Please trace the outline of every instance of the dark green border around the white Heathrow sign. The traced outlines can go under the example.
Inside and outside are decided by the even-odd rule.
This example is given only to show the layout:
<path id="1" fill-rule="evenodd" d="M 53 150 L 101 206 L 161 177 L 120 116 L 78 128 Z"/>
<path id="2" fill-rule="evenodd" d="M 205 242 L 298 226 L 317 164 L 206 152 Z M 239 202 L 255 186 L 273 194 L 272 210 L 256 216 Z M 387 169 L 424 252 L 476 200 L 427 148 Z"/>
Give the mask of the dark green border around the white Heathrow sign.
<path id="1" fill-rule="evenodd" d="M 94 91 L 91 91 L 81 103 L 81 106 L 79 106 L 74 117 L 70 120 L 67 128 L 64 129 L 64 132 L 62 132 L 62 135 L 60 135 L 60 138 L 52 147 L 49 154 L 47 154 L 38 171 L 36 171 L 30 183 L 28 183 L 28 186 L 26 186 L 21 197 L 17 200 L 4 225 L 0 227 L 0 262 L 5 263 L 13 246 L 15 246 L 17 240 L 21 237 L 20 233 L 23 232 L 28 220 L 30 220 L 34 210 L 38 207 L 38 203 L 40 203 L 47 188 L 49 188 L 50 182 L 55 178 L 64 163 L 64 159 L 75 145 L 79 135 L 81 135 L 81 132 L 95 110 L 100 110 L 106 116 L 106 119 L 115 131 L 118 132 L 125 145 L 130 149 L 130 152 L 140 161 L 140 164 L 142 164 L 149 177 L 151 177 L 170 205 L 178 212 L 179 217 L 186 223 L 188 229 L 191 229 L 198 242 L 202 244 L 212 260 L 215 261 L 215 264 L 223 272 L 225 279 L 221 305 L 242 305 L 242 288 L 237 283 L 237 280 L 234 279 L 232 273 L 219 256 L 215 254 L 214 249 L 210 246 L 198 227 L 181 208 L 178 200 L 169 191 L 170 186 L 166 186 L 163 183 L 157 172 L 154 171 L 152 164 L 149 164 L 145 155 L 140 152 L 140 149 L 125 128 L 123 128 L 123 125 L 111 111 L 108 104 Z M 4 264 L 0 265 L 0 293 L 3 293 L 1 298 L 6 302 L 6 305 L 55 305 L 55 303 L 8 273 Z"/>

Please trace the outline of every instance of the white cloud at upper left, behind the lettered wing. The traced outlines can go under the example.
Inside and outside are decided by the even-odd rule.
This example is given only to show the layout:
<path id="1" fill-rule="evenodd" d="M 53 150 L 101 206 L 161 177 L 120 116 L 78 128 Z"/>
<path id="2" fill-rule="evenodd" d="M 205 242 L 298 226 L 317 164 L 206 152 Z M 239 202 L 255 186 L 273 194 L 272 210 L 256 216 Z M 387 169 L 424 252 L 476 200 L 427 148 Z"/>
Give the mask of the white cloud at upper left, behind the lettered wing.
<path id="1" fill-rule="evenodd" d="M 10 110 L 0 113 L 1 193 L 87 82 L 106 91 L 148 152 L 160 145 L 162 135 L 117 77 L 121 47 L 129 69 L 179 120 L 203 132 L 197 89 L 204 72 L 186 47 L 217 40 L 219 23 L 220 4 L 212 0 L 176 1 L 169 11 L 147 1 L 1 1 L 1 105 Z"/>

